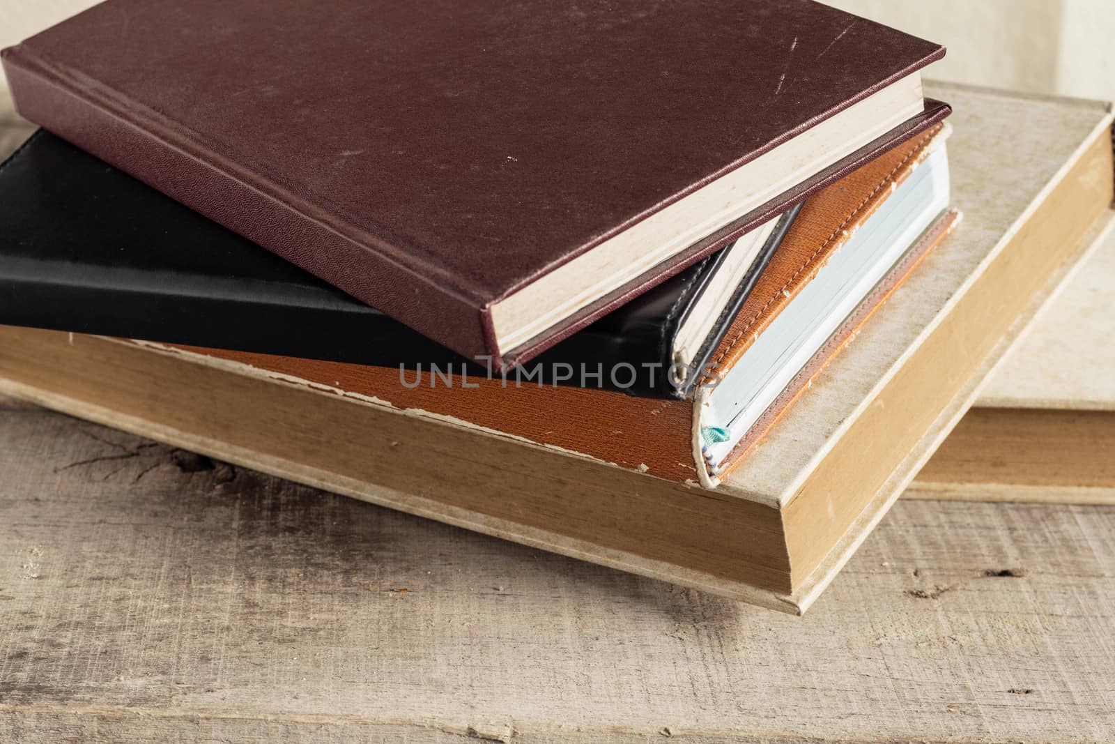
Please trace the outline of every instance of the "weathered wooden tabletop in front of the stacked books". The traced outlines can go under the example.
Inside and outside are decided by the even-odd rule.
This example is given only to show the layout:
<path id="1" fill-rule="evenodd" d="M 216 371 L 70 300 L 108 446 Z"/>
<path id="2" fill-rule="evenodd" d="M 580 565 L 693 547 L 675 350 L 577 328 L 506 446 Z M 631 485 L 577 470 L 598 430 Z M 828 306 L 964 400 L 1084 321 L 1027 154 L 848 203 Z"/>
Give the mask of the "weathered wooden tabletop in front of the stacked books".
<path id="1" fill-rule="evenodd" d="M 901 502 L 793 618 L 11 399 L 0 473 L 4 742 L 1115 741 L 1112 508 Z"/>

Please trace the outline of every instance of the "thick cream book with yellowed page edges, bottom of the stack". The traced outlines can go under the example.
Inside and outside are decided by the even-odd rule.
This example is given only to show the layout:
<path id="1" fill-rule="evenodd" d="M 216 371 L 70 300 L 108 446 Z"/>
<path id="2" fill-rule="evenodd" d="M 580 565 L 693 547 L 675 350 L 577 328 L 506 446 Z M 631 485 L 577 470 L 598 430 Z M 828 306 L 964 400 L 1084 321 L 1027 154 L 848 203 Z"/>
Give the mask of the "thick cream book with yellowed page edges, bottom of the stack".
<path id="1" fill-rule="evenodd" d="M 653 402 L 642 415 L 632 410 L 641 398 L 534 386 L 497 396 L 439 386 L 394 402 L 362 393 L 374 389 L 360 378 L 372 367 L 23 328 L 0 329 L 0 392 L 359 499 L 799 612 L 961 418 L 1039 298 L 1111 215 L 1108 113 L 943 91 L 959 104 L 949 151 L 963 223 L 715 490 L 655 477 L 665 457 L 655 461 L 658 472 L 639 466 L 656 446 L 672 446 L 678 410 L 691 412 L 691 402 Z M 1012 125 L 1019 120 L 1027 126 Z M 492 425 L 429 406 L 456 394 L 518 403 L 489 412 Z M 531 417 L 537 434 L 508 431 L 514 413 Z M 607 416 L 620 425 L 603 428 Z M 665 423 L 653 429 L 643 419 Z M 546 446 L 546 425 L 597 426 L 597 444 L 610 445 L 610 455 Z M 695 480 L 692 451 L 681 457 Z"/>

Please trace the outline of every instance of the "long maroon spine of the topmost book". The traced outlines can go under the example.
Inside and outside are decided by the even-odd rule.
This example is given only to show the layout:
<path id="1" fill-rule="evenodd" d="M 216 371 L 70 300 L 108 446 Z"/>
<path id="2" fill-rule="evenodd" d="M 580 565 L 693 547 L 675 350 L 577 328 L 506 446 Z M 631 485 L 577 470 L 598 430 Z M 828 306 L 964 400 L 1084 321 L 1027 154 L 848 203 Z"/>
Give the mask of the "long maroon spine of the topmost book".
<path id="1" fill-rule="evenodd" d="M 455 351 L 496 356 L 482 302 L 438 281 L 445 277 L 434 268 L 413 265 L 392 245 L 222 158 L 157 113 L 72 83 L 23 46 L 4 50 L 3 68 L 25 118 Z"/>

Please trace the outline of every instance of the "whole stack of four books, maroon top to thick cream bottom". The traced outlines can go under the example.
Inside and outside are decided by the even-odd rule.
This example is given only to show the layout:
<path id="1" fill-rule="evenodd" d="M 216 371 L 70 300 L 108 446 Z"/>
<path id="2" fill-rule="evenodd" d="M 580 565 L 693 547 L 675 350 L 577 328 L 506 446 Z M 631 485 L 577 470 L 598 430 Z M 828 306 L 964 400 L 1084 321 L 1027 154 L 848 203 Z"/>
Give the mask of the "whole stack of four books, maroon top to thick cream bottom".
<path id="1" fill-rule="evenodd" d="M 802 611 L 1111 203 L 1097 127 L 1056 247 L 938 250 L 943 54 L 808 0 L 108 0 L 3 52 L 0 388 Z"/>

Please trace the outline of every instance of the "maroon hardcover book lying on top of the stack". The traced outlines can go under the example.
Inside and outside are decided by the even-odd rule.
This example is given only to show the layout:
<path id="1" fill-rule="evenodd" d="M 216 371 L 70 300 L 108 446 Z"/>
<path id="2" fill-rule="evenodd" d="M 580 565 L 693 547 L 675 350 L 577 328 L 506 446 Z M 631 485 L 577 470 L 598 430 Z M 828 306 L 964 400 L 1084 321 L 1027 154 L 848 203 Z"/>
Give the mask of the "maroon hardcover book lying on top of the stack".
<path id="1" fill-rule="evenodd" d="M 809 0 L 108 0 L 3 66 L 27 118 L 498 369 L 943 118 L 943 52 Z"/>

